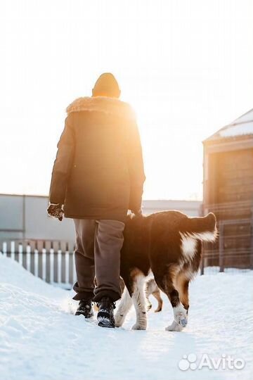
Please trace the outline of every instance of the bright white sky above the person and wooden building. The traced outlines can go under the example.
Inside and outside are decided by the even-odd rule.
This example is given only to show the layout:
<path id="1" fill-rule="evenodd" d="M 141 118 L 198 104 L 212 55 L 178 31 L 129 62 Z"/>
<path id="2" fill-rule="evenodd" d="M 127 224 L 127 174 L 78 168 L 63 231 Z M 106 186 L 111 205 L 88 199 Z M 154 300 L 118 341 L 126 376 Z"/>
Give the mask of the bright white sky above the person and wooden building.
<path id="1" fill-rule="evenodd" d="M 0 194 L 48 195 L 65 108 L 112 72 L 144 199 L 202 198 L 202 141 L 253 108 L 251 0 L 0 2 Z"/>

